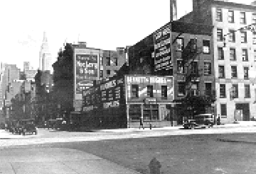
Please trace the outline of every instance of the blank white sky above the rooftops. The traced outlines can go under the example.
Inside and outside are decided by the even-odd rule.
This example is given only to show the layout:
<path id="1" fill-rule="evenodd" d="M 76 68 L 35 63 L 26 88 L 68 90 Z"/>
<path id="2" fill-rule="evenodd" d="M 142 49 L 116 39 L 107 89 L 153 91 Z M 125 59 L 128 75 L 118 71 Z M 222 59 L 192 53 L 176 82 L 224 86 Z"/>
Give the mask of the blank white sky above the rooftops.
<path id="1" fill-rule="evenodd" d="M 192 10 L 192 0 L 177 1 L 178 18 Z M 103 50 L 134 45 L 168 23 L 169 11 L 169 0 L 1 0 L 0 62 L 38 69 L 43 31 L 53 62 L 65 39 L 78 36 Z"/>

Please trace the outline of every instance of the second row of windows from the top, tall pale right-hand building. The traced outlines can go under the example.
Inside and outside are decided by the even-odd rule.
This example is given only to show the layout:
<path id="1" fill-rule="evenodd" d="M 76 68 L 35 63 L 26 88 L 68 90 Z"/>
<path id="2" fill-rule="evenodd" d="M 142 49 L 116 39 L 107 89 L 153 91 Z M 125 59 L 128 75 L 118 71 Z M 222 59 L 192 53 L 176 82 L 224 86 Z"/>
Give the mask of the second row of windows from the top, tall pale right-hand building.
<path id="1" fill-rule="evenodd" d="M 217 28 L 217 40 L 223 41 L 223 29 Z M 235 30 L 229 30 L 228 33 L 228 41 L 229 42 L 235 42 Z M 247 43 L 247 31 L 240 31 L 240 40 L 242 43 Z M 252 44 L 256 45 L 256 32 L 252 33 Z"/>

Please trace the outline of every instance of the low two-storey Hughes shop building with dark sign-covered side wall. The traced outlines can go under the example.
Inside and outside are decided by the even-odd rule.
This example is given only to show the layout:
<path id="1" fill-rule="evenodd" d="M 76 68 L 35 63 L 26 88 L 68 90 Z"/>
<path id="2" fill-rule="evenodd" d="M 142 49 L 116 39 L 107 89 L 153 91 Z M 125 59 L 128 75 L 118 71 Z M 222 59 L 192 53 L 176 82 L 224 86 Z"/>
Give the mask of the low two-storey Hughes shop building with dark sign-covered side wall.
<path id="1" fill-rule="evenodd" d="M 83 91 L 82 127 L 122 128 L 171 126 L 173 78 L 124 75 L 98 81 Z"/>

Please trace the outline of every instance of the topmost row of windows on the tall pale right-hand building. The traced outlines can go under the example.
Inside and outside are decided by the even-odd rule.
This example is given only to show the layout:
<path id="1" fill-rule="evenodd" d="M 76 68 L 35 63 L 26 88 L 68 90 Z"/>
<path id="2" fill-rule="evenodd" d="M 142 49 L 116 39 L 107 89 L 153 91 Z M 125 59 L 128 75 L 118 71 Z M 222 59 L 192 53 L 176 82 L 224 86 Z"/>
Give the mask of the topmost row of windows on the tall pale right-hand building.
<path id="1" fill-rule="evenodd" d="M 223 9 L 216 8 L 216 21 L 223 22 Z M 235 23 L 235 11 L 228 11 L 228 23 Z M 244 11 L 240 11 L 240 24 L 246 24 L 247 18 Z M 256 13 L 252 13 L 252 23 L 256 23 Z"/>

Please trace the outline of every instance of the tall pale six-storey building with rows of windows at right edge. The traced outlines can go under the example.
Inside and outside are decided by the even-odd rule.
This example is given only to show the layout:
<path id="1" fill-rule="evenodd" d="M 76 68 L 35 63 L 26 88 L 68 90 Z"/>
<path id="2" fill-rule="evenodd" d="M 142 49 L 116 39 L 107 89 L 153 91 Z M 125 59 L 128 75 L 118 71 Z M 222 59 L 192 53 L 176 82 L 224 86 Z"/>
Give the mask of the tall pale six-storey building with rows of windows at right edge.
<path id="1" fill-rule="evenodd" d="M 216 111 L 220 122 L 249 121 L 256 115 L 256 6 L 228 1 L 193 0 L 193 11 L 180 21 L 213 25 Z M 223 49 L 224 48 L 224 49 Z"/>

